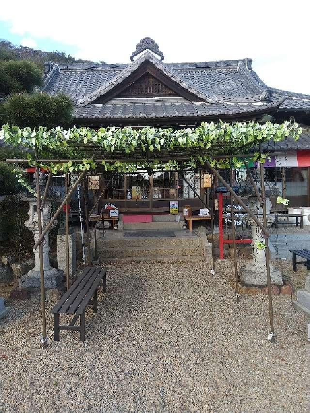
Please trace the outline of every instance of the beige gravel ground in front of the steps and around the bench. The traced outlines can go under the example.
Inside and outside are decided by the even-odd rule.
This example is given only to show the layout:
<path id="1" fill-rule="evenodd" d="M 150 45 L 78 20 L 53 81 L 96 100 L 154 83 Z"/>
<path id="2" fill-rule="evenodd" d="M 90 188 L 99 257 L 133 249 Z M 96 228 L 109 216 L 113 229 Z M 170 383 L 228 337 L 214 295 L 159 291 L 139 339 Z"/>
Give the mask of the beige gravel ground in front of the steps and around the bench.
<path id="1" fill-rule="evenodd" d="M 86 341 L 38 346 L 38 304 L 0 320 L 0 412 L 310 412 L 307 320 L 289 296 L 235 303 L 233 261 L 109 267 Z M 49 310 L 49 308 L 48 308 Z"/>

